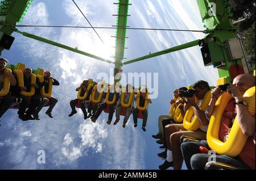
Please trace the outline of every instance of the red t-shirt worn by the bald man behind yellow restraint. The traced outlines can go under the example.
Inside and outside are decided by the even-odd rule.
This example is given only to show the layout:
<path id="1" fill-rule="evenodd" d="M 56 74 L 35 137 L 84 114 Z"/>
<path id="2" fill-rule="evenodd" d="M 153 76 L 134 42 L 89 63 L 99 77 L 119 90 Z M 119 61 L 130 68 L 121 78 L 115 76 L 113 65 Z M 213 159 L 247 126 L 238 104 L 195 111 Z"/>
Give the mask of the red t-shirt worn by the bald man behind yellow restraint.
<path id="1" fill-rule="evenodd" d="M 229 128 L 232 127 L 232 120 L 236 116 L 236 105 L 234 103 L 235 100 L 231 99 L 224 110 L 219 132 L 221 141 L 224 141 L 224 137 L 229 134 Z M 247 139 L 246 144 L 243 146 L 238 157 L 240 157 L 251 169 L 255 169 L 255 145 L 252 136 Z"/>

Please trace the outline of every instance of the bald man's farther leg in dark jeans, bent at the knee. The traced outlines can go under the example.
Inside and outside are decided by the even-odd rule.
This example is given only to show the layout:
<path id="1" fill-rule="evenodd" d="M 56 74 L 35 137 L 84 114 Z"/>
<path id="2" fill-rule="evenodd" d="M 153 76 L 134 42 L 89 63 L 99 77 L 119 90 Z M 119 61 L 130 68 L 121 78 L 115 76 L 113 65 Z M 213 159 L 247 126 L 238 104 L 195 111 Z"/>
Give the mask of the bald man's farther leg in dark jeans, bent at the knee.
<path id="1" fill-rule="evenodd" d="M 210 148 L 207 144 L 207 141 L 205 141 L 205 140 L 193 141 L 193 142 L 183 142 L 183 144 L 181 144 L 181 146 L 180 146 L 181 153 L 183 155 L 183 158 L 184 158 L 184 161 L 185 161 L 185 164 L 186 164 L 188 170 L 192 170 L 191 157 L 194 154 L 201 153 L 199 150 L 200 146 L 204 146 L 205 148 L 210 150 Z"/>

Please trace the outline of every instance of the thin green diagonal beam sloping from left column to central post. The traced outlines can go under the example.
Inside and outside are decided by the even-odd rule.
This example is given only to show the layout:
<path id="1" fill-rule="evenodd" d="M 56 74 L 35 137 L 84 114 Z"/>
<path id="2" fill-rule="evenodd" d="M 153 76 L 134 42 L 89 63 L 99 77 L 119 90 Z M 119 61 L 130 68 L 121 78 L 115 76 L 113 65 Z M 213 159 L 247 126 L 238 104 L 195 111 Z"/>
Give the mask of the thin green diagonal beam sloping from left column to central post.
<path id="1" fill-rule="evenodd" d="M 23 36 L 29 37 L 29 38 L 31 38 L 31 39 L 35 39 L 35 40 L 38 40 L 38 41 L 42 41 L 42 42 L 44 42 L 44 43 L 48 43 L 48 44 L 54 45 L 54 46 L 56 46 L 56 47 L 60 47 L 60 48 L 63 48 L 63 49 L 67 49 L 67 50 L 69 50 L 69 51 L 76 52 L 76 53 L 79 53 L 79 54 L 82 54 L 82 55 L 85 55 L 85 56 L 88 56 L 88 57 L 96 58 L 97 60 L 101 60 L 101 61 L 107 62 L 107 63 L 109 63 L 109 64 L 114 64 L 114 62 L 112 62 L 112 61 L 110 61 L 110 60 L 106 60 L 105 58 L 101 58 L 101 57 L 98 57 L 98 56 L 94 56 L 93 54 L 90 54 L 90 53 L 82 52 L 82 51 L 79 50 L 79 49 L 72 48 L 72 47 L 68 47 L 68 46 L 66 46 L 66 45 L 63 45 L 63 44 L 60 44 L 60 43 L 56 43 L 55 41 L 51 41 L 51 40 L 48 40 L 48 39 L 44 39 L 43 37 L 40 37 L 40 36 L 32 35 L 31 33 L 21 32 L 21 31 L 18 31 L 18 30 L 16 30 L 15 32 L 20 33 L 20 34 L 22 34 Z"/>

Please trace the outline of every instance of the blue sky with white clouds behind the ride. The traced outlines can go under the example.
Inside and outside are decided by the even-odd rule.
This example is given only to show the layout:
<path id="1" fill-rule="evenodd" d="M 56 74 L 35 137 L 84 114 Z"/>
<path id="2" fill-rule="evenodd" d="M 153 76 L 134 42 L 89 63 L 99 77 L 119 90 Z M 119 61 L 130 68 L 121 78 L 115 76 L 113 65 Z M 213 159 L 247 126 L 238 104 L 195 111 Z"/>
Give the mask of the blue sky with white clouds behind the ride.
<path id="1" fill-rule="evenodd" d="M 93 26 L 115 24 L 115 1 L 76 0 L 77 5 Z M 132 0 L 127 25 L 137 28 L 176 28 L 203 30 L 196 0 Z M 89 26 L 72 1 L 34 0 L 21 24 Z M 114 54 L 115 30 L 97 30 L 103 45 L 90 29 L 75 28 L 18 28 L 53 41 L 77 47 L 85 52 L 109 59 Z M 110 73 L 113 65 L 28 39 L 13 33 L 15 41 L 2 57 L 10 64 L 23 62 L 32 69 L 51 70 L 61 83 L 53 89 L 59 99 L 53 110 L 54 119 L 40 112 L 40 121 L 22 122 L 16 110 L 9 110 L 1 119 L 0 169 L 158 169 L 163 163 L 156 154 L 158 144 L 151 135 L 158 131 L 158 116 L 168 114 L 172 91 L 204 79 L 215 85 L 217 70 L 205 68 L 200 48 L 194 47 L 123 66 L 124 73 L 158 73 L 158 97 L 149 107 L 147 131 L 133 127 L 133 119 L 125 129 L 122 124 L 106 124 L 102 113 L 96 123 L 84 121 L 82 112 L 68 117 L 69 101 L 76 98 L 76 87 L 86 78 L 97 81 L 97 74 Z M 127 30 L 125 57 L 127 60 L 149 52 L 174 47 L 200 39 L 203 33 Z M 126 60 L 125 60 L 126 61 Z M 115 117 L 114 117 L 115 118 Z M 113 118 L 113 120 L 114 120 Z M 38 164 L 38 150 L 46 151 L 46 164 Z M 185 169 L 185 166 L 183 166 Z"/>

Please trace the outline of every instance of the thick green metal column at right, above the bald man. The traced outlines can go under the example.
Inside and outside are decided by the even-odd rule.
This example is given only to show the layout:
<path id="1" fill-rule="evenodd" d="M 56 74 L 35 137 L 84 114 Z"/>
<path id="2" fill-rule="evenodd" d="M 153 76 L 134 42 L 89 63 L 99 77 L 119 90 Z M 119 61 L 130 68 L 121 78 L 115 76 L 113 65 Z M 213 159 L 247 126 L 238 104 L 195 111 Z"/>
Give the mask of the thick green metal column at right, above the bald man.
<path id="1" fill-rule="evenodd" d="M 226 42 L 236 38 L 238 30 L 230 20 L 233 14 L 229 0 L 197 0 L 197 5 L 204 27 L 209 32 L 205 39 L 215 39 L 215 42 L 207 44 L 213 62 L 210 65 L 217 66 L 221 61 L 224 62 L 225 65 L 218 68 L 218 74 L 220 77 L 230 77 L 230 67 L 242 66 L 242 62 L 241 59 L 229 60 L 227 54 Z"/>

